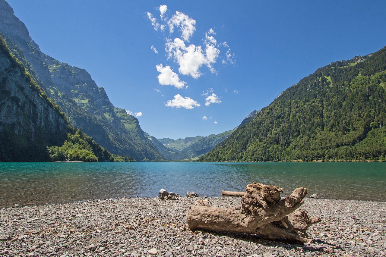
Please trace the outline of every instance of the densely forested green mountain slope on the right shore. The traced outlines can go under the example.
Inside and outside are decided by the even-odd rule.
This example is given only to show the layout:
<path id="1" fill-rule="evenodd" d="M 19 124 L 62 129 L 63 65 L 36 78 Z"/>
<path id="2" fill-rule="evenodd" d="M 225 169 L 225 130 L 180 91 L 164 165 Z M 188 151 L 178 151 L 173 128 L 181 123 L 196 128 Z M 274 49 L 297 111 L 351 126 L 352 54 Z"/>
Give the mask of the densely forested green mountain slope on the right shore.
<path id="1" fill-rule="evenodd" d="M 385 161 L 385 70 L 386 47 L 317 69 L 199 161 Z"/>

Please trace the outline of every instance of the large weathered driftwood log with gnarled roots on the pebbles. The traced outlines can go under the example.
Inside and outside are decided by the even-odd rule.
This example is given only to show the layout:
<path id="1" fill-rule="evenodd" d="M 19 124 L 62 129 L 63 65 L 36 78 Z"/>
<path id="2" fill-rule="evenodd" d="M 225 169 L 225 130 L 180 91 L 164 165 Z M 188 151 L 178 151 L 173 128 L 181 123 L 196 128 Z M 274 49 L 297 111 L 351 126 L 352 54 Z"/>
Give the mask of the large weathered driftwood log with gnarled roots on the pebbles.
<path id="1" fill-rule="evenodd" d="M 241 205 L 213 208 L 208 201 L 199 200 L 191 206 L 186 220 L 191 230 L 207 229 L 218 232 L 258 234 L 263 238 L 286 238 L 305 243 L 306 230 L 320 221 L 307 211 L 298 209 L 304 203 L 306 188 L 297 188 L 281 200 L 282 189 L 277 186 L 251 183 L 245 188 Z"/>

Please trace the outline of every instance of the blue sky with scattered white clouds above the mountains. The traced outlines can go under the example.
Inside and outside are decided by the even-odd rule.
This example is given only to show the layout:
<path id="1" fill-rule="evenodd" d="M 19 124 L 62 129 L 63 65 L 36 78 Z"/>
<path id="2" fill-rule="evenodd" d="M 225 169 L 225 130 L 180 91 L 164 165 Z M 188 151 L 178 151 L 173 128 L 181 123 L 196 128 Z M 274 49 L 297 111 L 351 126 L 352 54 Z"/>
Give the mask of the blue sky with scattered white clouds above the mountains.
<path id="1" fill-rule="evenodd" d="M 8 3 L 42 52 L 157 138 L 231 130 L 317 68 L 386 45 L 386 1 Z"/>

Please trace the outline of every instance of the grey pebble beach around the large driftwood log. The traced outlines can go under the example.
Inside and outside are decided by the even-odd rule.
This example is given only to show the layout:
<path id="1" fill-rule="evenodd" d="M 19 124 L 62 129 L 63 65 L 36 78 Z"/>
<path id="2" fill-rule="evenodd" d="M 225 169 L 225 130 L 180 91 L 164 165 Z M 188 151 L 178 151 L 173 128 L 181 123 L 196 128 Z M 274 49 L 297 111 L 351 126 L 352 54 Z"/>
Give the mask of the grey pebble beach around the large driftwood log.
<path id="1" fill-rule="evenodd" d="M 312 242 L 258 235 L 192 232 L 185 220 L 196 200 L 212 207 L 238 197 L 117 198 L 0 209 L 0 256 L 385 256 L 386 203 L 305 198 L 300 208 L 322 222 Z"/>

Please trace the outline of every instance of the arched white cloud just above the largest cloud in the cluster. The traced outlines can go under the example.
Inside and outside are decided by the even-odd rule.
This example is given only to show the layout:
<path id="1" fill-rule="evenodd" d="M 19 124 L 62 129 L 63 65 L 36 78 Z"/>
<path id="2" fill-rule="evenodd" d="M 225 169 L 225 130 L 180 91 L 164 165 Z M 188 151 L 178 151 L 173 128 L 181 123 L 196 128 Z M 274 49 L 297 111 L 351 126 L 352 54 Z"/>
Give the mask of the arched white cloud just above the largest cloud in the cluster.
<path id="1" fill-rule="evenodd" d="M 174 26 L 179 27 L 181 37 L 185 41 L 189 41 L 190 37 L 193 36 L 193 33 L 196 30 L 196 20 L 193 20 L 188 15 L 178 11 L 176 11 L 176 14 L 170 18 L 168 25 L 170 34 L 174 32 Z"/>

